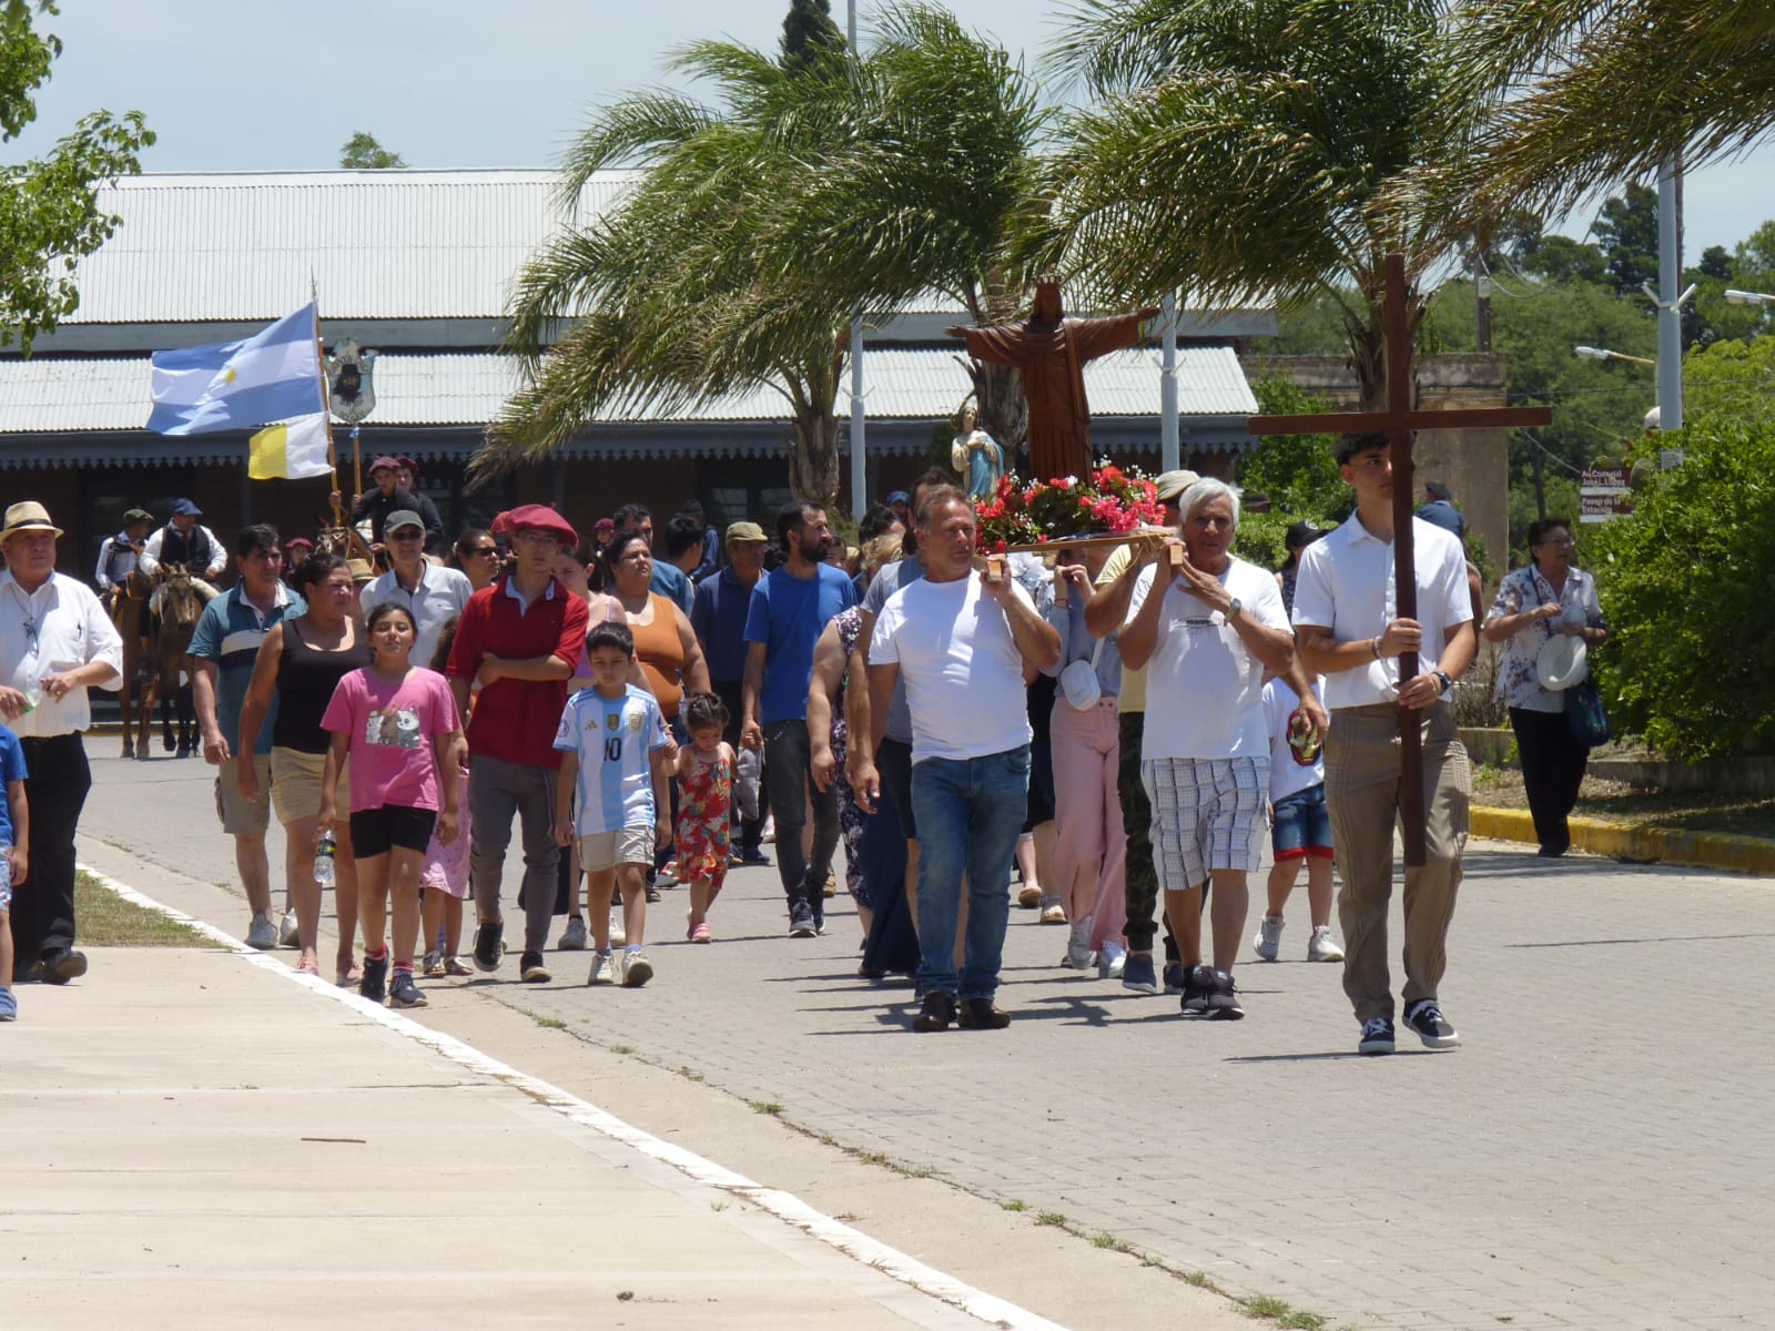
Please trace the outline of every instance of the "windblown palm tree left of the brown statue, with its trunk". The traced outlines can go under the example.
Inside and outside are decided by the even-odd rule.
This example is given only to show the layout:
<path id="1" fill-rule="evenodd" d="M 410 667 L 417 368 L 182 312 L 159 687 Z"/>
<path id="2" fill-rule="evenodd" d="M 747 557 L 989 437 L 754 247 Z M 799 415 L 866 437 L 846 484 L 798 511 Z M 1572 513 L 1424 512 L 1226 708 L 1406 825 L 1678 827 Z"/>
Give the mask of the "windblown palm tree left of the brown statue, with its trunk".
<path id="1" fill-rule="evenodd" d="M 882 319 L 950 291 L 987 318 L 1021 298 L 1008 234 L 1035 181 L 1033 92 L 1003 51 L 925 7 L 889 9 L 861 59 L 809 46 L 785 66 L 694 43 L 671 66 L 719 101 L 627 98 L 573 144 L 568 204 L 596 170 L 639 174 L 520 272 L 508 346 L 525 382 L 476 469 L 545 456 L 596 419 L 769 387 L 793 426 L 790 486 L 831 502 L 852 312 Z"/>

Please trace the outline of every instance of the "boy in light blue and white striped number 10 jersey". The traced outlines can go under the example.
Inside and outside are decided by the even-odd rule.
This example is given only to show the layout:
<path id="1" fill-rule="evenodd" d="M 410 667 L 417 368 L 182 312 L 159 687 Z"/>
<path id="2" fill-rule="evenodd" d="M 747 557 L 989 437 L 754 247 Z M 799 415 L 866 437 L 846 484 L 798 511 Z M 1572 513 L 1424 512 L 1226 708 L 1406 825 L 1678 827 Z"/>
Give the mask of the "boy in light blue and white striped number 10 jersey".
<path id="1" fill-rule="evenodd" d="M 653 964 L 641 949 L 646 871 L 655 848 L 671 843 L 666 774 L 673 744 L 653 694 L 628 683 L 635 658 L 628 626 L 598 625 L 586 635 L 586 655 L 593 685 L 566 699 L 554 740 L 561 751 L 554 832 L 563 847 L 579 836 L 596 944 L 586 983 L 639 988 L 653 976 Z M 627 933 L 619 960 L 611 955 L 611 896 L 618 882 Z"/>

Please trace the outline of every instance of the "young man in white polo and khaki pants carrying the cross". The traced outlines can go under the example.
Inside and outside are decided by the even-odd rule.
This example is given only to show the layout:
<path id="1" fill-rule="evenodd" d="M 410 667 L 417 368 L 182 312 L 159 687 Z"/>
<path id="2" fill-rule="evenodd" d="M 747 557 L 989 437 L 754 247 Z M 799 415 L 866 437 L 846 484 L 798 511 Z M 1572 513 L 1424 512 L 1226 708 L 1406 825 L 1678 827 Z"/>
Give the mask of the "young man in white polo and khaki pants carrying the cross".
<path id="1" fill-rule="evenodd" d="M 1448 694 L 1473 662 L 1473 600 L 1461 541 L 1411 520 L 1418 616 L 1404 619 L 1393 586 L 1393 467 L 1386 435 L 1344 435 L 1338 470 L 1356 492 L 1351 518 L 1301 552 L 1294 626 L 1306 669 L 1326 676 L 1326 806 L 1344 891 L 1344 992 L 1361 1022 L 1358 1051 L 1393 1052 L 1386 971 L 1386 909 L 1393 894 L 1399 818 L 1399 712 L 1418 713 L 1424 736 L 1425 862 L 1406 870 L 1406 1026 L 1429 1049 L 1461 1044 L 1436 987 L 1447 967 L 1448 921 L 1461 886 L 1471 776 Z M 1399 678 L 1416 651 L 1418 673 Z"/>

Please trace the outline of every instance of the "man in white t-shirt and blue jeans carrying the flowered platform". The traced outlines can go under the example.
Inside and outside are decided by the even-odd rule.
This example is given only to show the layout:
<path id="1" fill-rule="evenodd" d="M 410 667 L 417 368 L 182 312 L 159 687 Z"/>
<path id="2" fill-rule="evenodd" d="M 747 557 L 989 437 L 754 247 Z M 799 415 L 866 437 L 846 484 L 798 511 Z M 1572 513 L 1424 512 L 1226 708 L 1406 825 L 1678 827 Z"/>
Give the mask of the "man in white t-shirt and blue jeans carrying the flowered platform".
<path id="1" fill-rule="evenodd" d="M 925 577 L 882 607 L 870 639 L 870 703 L 880 742 L 898 681 L 912 715 L 912 809 L 918 820 L 918 1031 L 1003 1029 L 994 1006 L 1010 862 L 1030 797 L 1030 713 L 1024 667 L 1060 660 L 1060 634 L 1005 571 L 974 573 L 974 509 L 955 486 L 919 497 L 918 554 Z M 863 772 L 873 804 L 880 781 Z M 967 880 L 960 974 L 955 933 Z M 957 1012 L 957 1003 L 960 1010 Z"/>

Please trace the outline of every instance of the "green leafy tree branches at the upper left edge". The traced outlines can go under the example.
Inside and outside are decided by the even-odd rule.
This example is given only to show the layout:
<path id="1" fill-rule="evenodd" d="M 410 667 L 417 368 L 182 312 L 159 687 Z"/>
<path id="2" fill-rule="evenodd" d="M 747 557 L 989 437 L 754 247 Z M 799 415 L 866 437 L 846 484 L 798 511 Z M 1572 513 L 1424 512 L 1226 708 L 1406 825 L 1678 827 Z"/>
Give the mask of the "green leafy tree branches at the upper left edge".
<path id="1" fill-rule="evenodd" d="M 59 37 L 37 32 L 36 16 L 55 14 L 7 0 L 0 7 L 0 142 L 11 142 L 37 119 L 36 92 L 62 53 Z M 138 154 L 154 142 L 140 112 L 91 112 L 50 149 L 48 156 L 5 172 L 0 190 L 0 346 L 14 339 L 30 353 L 37 334 L 80 305 L 73 273 L 122 218 L 101 213 L 98 192 L 119 176 L 133 176 Z"/>

